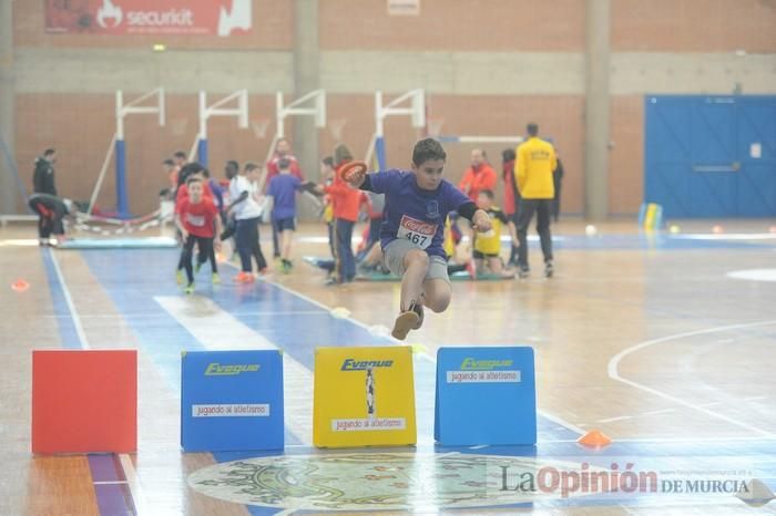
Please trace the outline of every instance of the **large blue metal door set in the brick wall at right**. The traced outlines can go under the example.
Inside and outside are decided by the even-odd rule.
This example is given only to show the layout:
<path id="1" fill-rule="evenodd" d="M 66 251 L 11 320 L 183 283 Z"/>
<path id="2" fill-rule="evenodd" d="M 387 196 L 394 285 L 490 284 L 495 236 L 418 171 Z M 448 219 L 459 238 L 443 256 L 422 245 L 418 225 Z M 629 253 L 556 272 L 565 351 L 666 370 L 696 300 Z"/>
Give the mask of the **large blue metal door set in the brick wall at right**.
<path id="1" fill-rule="evenodd" d="M 645 203 L 666 217 L 776 215 L 776 96 L 645 99 Z"/>

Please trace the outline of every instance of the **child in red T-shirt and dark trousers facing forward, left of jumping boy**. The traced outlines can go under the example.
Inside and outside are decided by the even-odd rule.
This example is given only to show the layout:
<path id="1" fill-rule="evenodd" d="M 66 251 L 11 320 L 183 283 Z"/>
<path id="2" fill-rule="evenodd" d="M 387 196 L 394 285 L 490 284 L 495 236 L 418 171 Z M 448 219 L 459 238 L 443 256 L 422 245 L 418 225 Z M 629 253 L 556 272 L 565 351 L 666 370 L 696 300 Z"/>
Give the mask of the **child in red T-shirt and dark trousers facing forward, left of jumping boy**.
<path id="1" fill-rule="evenodd" d="M 181 265 L 186 270 L 188 285 L 186 293 L 194 293 L 194 270 L 192 267 L 192 255 L 194 245 L 200 248 L 203 256 L 213 256 L 212 248 L 221 250 L 221 240 L 215 239 L 215 235 L 221 235 L 221 217 L 218 208 L 215 207 L 212 197 L 204 196 L 204 183 L 200 177 L 191 177 L 186 180 L 188 195 L 181 199 L 176 209 L 175 225 L 183 236 L 183 250 L 181 252 Z M 213 282 L 219 282 L 218 269 L 215 262 L 213 267 Z"/>

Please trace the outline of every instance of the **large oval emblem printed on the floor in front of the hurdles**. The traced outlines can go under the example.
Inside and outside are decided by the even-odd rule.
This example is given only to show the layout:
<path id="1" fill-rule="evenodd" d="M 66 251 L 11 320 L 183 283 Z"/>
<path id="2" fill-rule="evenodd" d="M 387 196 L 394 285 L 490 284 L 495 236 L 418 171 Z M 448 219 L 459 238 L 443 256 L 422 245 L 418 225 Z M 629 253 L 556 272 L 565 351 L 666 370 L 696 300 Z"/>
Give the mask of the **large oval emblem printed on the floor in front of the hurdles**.
<path id="1" fill-rule="evenodd" d="M 557 499 L 563 493 L 551 488 L 555 475 L 579 467 L 461 453 L 323 453 L 221 463 L 194 472 L 188 485 L 214 498 L 283 509 L 421 510 Z M 589 469 L 598 471 L 604 469 Z M 564 497 L 580 494 L 593 493 Z"/>

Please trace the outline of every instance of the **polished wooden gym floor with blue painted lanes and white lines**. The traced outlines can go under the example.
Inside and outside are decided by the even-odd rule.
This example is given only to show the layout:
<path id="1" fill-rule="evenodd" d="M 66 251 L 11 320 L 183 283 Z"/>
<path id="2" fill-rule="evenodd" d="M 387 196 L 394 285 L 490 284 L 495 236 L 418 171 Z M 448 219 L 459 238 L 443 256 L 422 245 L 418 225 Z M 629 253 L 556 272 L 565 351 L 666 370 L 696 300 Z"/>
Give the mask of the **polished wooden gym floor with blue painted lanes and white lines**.
<path id="1" fill-rule="evenodd" d="M 776 491 L 776 220 L 680 224 L 676 235 L 623 221 L 586 236 L 561 221 L 555 278 L 541 277 L 532 241 L 528 280 L 453 282 L 450 309 L 407 340 L 418 446 L 339 452 L 310 446 L 314 348 L 392 342 L 398 283 L 325 287 L 300 259 L 327 255 L 320 226 L 299 233 L 292 275 L 235 286 L 225 264 L 214 288 L 205 266 L 192 297 L 175 285 L 175 249 L 50 250 L 32 226 L 0 229 L 0 514 L 773 514 L 776 502 L 735 495 L 745 483 L 762 505 Z M 10 288 L 18 278 L 29 290 Z M 435 448 L 437 349 L 506 344 L 537 352 L 538 446 Z M 286 354 L 285 454 L 182 453 L 181 350 L 257 347 Z M 31 350 L 60 348 L 139 350 L 136 454 L 31 454 Z M 593 429 L 613 444 L 575 442 Z M 582 463 L 658 482 L 525 492 L 493 474 Z M 267 464 L 272 482 L 256 474 Z M 305 477 L 308 466 L 320 475 Z"/>

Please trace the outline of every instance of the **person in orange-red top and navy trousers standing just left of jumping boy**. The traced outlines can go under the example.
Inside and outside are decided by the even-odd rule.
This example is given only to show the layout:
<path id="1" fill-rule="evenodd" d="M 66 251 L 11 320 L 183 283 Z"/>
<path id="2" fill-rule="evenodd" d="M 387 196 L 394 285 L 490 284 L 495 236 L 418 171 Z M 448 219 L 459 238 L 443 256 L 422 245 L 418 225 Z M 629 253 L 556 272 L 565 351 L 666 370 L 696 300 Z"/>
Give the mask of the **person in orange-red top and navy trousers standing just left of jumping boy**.
<path id="1" fill-rule="evenodd" d="M 343 167 L 353 161 L 350 149 L 340 144 L 334 151 L 335 175 L 334 183 L 318 186 L 321 194 L 327 194 L 334 205 L 334 240 L 335 240 L 335 282 L 350 282 L 356 278 L 356 257 L 353 254 L 353 228 L 358 220 L 363 193 L 351 187 L 340 177 Z"/>

